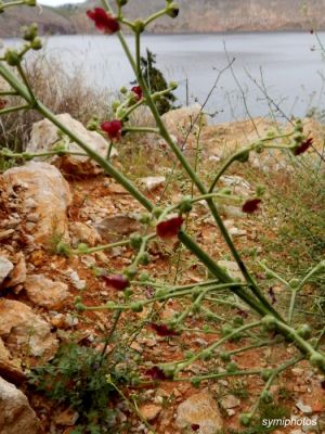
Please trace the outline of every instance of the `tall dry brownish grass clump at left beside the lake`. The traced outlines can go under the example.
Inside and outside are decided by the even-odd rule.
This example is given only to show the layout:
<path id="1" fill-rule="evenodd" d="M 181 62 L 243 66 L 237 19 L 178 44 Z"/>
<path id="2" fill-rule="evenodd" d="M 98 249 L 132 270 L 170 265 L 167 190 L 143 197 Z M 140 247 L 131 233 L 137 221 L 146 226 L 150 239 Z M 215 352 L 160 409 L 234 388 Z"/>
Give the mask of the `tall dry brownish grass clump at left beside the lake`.
<path id="1" fill-rule="evenodd" d="M 37 98 L 55 114 L 69 113 L 87 124 L 93 115 L 103 119 L 109 110 L 108 97 L 87 84 L 82 71 L 67 74 L 58 60 L 38 55 L 26 64 L 26 73 Z M 21 104 L 18 98 L 10 105 Z M 2 116 L 0 119 L 0 148 L 23 151 L 29 140 L 31 126 L 41 117 L 35 111 Z"/>

